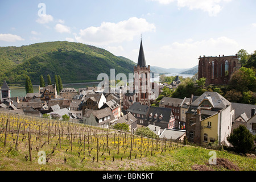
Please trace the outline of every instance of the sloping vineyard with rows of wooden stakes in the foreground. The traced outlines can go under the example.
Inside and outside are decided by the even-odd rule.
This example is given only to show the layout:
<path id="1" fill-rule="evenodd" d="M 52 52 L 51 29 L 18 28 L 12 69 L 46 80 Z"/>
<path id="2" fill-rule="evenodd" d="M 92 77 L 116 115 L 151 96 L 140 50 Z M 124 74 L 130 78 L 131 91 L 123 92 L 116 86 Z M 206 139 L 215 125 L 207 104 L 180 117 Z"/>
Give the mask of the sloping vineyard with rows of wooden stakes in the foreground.
<path id="1" fill-rule="evenodd" d="M 189 150 L 196 154 L 195 147 L 172 140 L 0 113 L 0 170 L 161 170 L 163 166 L 191 170 L 193 164 L 205 164 L 209 158 L 205 151 L 199 156 L 189 154 L 188 160 L 193 161 L 182 162 L 188 154 L 179 155 Z M 243 169 L 255 169 L 255 158 L 240 160 Z"/>

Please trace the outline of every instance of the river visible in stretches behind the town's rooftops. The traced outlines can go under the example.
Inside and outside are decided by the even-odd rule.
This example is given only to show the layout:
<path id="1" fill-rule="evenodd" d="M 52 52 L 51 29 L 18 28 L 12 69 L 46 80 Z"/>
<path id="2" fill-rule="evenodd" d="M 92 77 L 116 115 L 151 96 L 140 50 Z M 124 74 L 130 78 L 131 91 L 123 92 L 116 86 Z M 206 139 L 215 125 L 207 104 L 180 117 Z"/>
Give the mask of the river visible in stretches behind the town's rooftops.
<path id="1" fill-rule="evenodd" d="M 183 74 L 177 74 L 177 73 L 171 73 L 166 74 L 166 76 L 182 76 L 184 78 L 192 77 L 193 75 L 183 75 Z M 154 78 L 154 80 L 158 80 L 157 78 Z M 63 88 L 75 88 L 78 90 L 79 88 L 86 88 L 86 86 L 98 86 L 98 82 L 84 82 L 84 83 L 78 83 L 78 84 L 63 84 Z M 22 88 L 10 88 L 11 89 L 11 97 L 24 97 L 26 96 L 26 90 L 24 87 Z M 39 92 L 39 86 L 33 86 L 34 93 Z"/>

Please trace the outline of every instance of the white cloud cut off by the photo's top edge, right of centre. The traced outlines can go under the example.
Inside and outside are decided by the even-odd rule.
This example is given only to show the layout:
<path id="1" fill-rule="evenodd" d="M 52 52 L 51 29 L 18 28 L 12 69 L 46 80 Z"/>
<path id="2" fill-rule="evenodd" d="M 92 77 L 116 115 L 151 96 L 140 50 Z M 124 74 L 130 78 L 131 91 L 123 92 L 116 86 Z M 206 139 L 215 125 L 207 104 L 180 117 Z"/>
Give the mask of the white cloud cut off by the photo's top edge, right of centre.
<path id="1" fill-rule="evenodd" d="M 200 9 L 207 11 L 209 16 L 216 16 L 222 10 L 223 3 L 231 2 L 232 0 L 151 0 L 158 1 L 163 5 L 172 2 L 177 2 L 177 7 L 188 7 L 189 10 Z"/>

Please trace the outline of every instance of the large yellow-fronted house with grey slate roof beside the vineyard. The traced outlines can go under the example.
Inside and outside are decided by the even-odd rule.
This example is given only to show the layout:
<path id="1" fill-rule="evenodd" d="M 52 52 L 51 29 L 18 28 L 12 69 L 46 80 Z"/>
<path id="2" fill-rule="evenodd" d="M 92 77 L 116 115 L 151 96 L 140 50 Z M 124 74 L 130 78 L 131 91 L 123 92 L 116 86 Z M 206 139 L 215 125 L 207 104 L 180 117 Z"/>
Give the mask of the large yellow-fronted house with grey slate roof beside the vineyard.
<path id="1" fill-rule="evenodd" d="M 189 142 L 209 142 L 229 146 L 226 140 L 232 130 L 234 110 L 231 103 L 217 92 L 205 92 L 191 103 L 186 112 L 186 135 Z"/>

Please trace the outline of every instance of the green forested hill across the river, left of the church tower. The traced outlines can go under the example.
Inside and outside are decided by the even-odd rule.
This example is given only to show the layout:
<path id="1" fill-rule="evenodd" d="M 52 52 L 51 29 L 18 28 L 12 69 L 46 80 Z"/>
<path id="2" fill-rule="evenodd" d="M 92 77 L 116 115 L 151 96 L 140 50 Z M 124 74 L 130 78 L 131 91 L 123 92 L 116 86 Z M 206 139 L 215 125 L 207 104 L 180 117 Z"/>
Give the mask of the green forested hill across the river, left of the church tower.
<path id="1" fill-rule="evenodd" d="M 95 81 L 100 73 L 133 73 L 135 63 L 102 48 L 71 42 L 44 42 L 21 47 L 0 47 L 0 83 L 22 84 L 25 75 L 39 84 L 40 75 L 60 75 L 64 83 Z"/>

